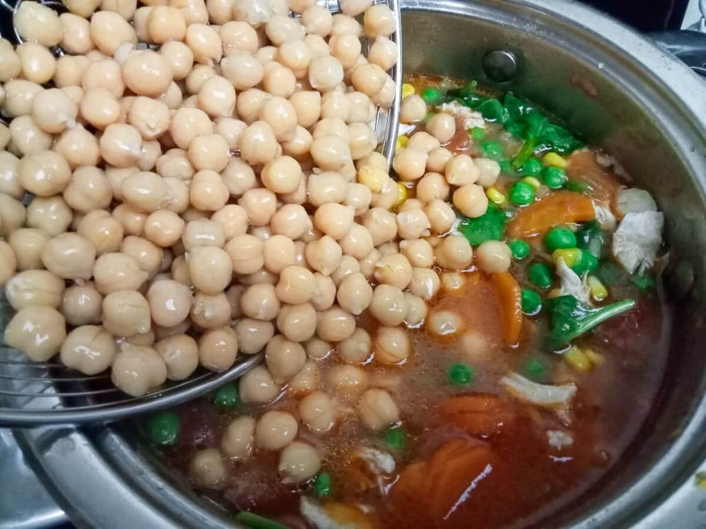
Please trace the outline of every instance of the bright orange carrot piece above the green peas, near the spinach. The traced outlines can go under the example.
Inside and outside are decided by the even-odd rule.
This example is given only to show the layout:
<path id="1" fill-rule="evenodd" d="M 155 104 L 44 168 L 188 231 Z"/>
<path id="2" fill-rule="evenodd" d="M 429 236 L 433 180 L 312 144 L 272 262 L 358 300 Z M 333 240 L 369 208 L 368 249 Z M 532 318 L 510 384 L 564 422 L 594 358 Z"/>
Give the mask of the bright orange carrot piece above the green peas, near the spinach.
<path id="1" fill-rule="evenodd" d="M 508 224 L 514 238 L 542 235 L 559 224 L 586 222 L 596 218 L 590 197 L 573 191 L 557 191 L 522 209 Z"/>

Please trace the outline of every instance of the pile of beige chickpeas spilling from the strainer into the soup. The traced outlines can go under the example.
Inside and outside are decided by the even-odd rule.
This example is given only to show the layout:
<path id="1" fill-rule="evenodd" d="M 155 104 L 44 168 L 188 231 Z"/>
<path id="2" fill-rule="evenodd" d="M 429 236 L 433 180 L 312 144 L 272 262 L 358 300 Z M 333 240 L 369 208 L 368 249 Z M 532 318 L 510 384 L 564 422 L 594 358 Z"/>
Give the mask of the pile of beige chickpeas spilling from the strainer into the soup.
<path id="1" fill-rule="evenodd" d="M 365 425 L 398 420 L 360 364 L 409 358 L 405 328 L 424 322 L 439 274 L 473 263 L 453 206 L 483 214 L 498 165 L 445 149 L 455 119 L 421 124 L 429 109 L 410 95 L 402 121 L 419 131 L 389 176 L 369 125 L 396 93 L 385 5 L 64 4 L 22 1 L 23 43 L 0 39 L 6 344 L 85 375 L 110 369 L 131 396 L 264 351 L 241 399 L 290 391 L 297 415 L 237 418 L 220 450 L 196 456 L 194 479 L 217 486 L 223 458 L 253 447 L 282 450 L 283 480 L 311 478 L 319 456 L 295 440 L 298 424 L 335 423 L 317 362 L 337 355 L 330 387 L 359 394 Z M 509 250 L 479 248 L 475 264 L 507 269 Z M 374 336 L 357 325 L 364 311 Z"/>

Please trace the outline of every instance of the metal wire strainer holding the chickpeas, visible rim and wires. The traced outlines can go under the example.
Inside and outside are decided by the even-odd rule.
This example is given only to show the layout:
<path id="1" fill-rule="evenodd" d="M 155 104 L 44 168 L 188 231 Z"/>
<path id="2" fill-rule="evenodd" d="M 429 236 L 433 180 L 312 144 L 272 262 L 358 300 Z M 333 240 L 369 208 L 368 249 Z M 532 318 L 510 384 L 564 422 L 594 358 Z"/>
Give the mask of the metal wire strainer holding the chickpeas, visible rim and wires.
<path id="1" fill-rule="evenodd" d="M 2 36 L 16 44 L 21 39 L 11 20 L 21 1 L 0 0 Z M 57 11 L 66 11 L 61 1 L 39 1 Z M 318 4 L 332 13 L 340 12 L 338 0 L 318 0 Z M 387 4 L 397 14 L 395 32 L 390 35 L 390 39 L 397 44 L 397 62 L 390 71 L 396 85 L 395 100 L 390 109 L 378 109 L 375 121 L 371 123 L 389 165 L 395 152 L 402 90 L 400 10 L 397 0 L 374 0 L 372 4 Z M 57 56 L 64 54 L 60 47 L 53 51 Z M 12 314 L 12 308 L 0 291 L 0 330 L 6 327 Z M 159 391 L 133 398 L 112 385 L 109 373 L 83 375 L 58 360 L 32 363 L 23 353 L 0 341 L 0 427 L 109 422 L 169 408 L 241 377 L 262 360 L 262 353 L 241 356 L 225 372 L 200 370 L 183 382 L 175 382 Z"/>

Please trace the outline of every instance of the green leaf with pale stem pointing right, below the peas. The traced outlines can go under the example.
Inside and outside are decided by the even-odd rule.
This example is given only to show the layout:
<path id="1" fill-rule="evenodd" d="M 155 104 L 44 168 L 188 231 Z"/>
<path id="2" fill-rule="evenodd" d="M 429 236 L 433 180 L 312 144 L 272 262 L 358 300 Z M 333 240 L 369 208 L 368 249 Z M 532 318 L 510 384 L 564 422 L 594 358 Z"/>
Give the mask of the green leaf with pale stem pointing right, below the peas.
<path id="1" fill-rule="evenodd" d="M 591 308 L 573 296 L 559 296 L 546 300 L 551 314 L 547 347 L 555 349 L 593 329 L 599 323 L 635 307 L 635 300 L 626 299 L 600 308 Z"/>

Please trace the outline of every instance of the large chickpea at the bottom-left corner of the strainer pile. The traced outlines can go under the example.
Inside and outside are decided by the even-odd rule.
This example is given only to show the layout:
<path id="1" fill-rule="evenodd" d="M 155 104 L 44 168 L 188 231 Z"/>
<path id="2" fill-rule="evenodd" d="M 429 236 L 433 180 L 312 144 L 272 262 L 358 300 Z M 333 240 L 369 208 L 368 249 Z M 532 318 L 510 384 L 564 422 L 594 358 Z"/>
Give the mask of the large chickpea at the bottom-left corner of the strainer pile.
<path id="1" fill-rule="evenodd" d="M 23 351 L 32 362 L 46 362 L 66 339 L 64 316 L 43 305 L 18 310 L 5 327 L 4 341 Z"/>

